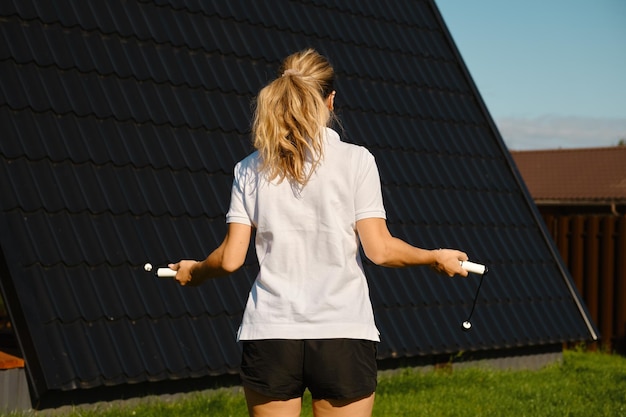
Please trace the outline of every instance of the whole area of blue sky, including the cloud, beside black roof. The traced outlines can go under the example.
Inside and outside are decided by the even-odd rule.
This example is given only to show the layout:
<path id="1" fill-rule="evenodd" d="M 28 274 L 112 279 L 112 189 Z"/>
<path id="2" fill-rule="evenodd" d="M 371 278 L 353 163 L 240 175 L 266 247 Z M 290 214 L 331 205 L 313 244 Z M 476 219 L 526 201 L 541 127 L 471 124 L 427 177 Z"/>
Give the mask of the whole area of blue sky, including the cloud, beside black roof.
<path id="1" fill-rule="evenodd" d="M 507 147 L 626 141 L 626 0 L 435 0 Z"/>

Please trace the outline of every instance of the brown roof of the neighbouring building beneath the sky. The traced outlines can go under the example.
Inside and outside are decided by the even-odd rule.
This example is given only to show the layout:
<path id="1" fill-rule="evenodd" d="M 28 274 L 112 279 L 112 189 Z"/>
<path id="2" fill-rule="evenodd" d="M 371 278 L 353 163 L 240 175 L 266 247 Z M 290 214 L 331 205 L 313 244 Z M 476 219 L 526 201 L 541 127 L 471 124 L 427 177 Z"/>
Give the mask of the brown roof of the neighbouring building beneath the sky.
<path id="1" fill-rule="evenodd" d="M 511 155 L 536 201 L 626 200 L 626 146 Z"/>

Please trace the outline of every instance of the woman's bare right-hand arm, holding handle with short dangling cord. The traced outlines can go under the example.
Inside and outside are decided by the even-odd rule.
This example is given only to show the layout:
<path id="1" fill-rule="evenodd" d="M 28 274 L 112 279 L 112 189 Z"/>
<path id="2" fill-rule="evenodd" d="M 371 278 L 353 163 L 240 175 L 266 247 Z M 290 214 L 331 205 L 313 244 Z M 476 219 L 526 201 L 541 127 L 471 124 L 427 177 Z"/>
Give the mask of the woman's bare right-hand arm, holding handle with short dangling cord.
<path id="1" fill-rule="evenodd" d="M 468 260 L 464 252 L 454 249 L 427 250 L 410 245 L 391 235 L 383 218 L 357 221 L 357 232 L 365 256 L 376 265 L 390 268 L 428 265 L 448 276 L 467 276 L 461 261 Z"/>

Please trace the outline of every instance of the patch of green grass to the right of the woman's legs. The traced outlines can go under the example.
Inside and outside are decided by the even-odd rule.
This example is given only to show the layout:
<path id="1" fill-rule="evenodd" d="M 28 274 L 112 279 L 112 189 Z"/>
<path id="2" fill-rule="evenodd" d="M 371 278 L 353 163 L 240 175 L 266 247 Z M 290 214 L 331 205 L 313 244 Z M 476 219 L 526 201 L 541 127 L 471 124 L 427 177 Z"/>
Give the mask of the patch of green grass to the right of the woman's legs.
<path id="1" fill-rule="evenodd" d="M 568 351 L 540 371 L 404 371 L 380 381 L 374 415 L 626 416 L 626 359 Z"/>

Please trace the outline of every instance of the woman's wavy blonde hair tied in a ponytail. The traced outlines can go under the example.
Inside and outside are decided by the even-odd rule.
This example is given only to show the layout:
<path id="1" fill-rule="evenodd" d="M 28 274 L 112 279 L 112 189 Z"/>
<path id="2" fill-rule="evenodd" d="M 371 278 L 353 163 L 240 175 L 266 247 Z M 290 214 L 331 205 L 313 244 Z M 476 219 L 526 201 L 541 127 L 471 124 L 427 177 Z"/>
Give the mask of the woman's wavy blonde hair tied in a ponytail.
<path id="1" fill-rule="evenodd" d="M 279 77 L 259 92 L 253 144 L 269 180 L 305 185 L 315 171 L 324 153 L 323 128 L 331 120 L 326 99 L 333 81 L 328 60 L 306 49 L 285 58 Z"/>

